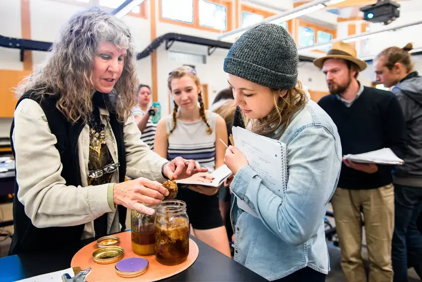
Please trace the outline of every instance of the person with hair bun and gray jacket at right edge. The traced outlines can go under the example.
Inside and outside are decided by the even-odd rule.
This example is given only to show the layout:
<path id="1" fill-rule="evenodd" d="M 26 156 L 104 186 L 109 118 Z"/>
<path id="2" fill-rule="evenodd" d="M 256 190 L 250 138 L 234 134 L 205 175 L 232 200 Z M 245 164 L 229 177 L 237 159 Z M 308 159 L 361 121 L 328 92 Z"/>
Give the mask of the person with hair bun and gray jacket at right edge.
<path id="1" fill-rule="evenodd" d="M 422 278 L 422 77 L 415 71 L 409 54 L 412 49 L 412 43 L 388 47 L 374 60 L 377 82 L 391 87 L 402 106 L 408 135 L 404 165 L 397 166 L 393 174 L 395 282 L 408 281 L 411 266 Z"/>

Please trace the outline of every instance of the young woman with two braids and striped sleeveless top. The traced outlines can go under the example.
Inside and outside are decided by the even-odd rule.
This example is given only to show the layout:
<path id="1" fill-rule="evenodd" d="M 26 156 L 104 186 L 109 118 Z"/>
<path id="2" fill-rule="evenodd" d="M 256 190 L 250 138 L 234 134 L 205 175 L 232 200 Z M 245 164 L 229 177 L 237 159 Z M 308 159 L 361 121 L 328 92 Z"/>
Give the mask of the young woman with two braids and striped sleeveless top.
<path id="1" fill-rule="evenodd" d="M 227 143 L 224 119 L 204 109 L 201 83 L 191 67 L 172 71 L 168 89 L 174 98 L 174 109 L 171 115 L 158 123 L 155 152 L 168 160 L 176 156 L 189 157 L 212 172 L 223 164 L 225 147 L 218 139 Z M 209 173 L 196 174 L 192 178 L 211 182 Z M 186 202 L 193 235 L 230 257 L 217 191 L 218 188 L 188 185 L 179 188 L 177 198 Z"/>

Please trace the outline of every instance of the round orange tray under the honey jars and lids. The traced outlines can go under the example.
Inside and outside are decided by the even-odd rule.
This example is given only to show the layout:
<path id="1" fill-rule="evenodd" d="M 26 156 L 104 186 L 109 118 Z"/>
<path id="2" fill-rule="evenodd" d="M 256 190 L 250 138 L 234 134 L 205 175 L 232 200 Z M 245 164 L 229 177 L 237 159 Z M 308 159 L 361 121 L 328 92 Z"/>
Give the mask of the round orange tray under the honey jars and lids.
<path id="1" fill-rule="evenodd" d="M 120 245 L 125 250 L 124 259 L 132 257 L 140 257 L 132 251 L 132 239 L 131 232 L 122 232 L 115 234 L 120 238 Z M 102 282 L 102 281 L 142 281 L 142 282 L 152 282 L 158 281 L 164 278 L 174 276 L 182 271 L 188 269 L 198 258 L 199 249 L 198 245 L 192 240 L 189 239 L 189 255 L 185 262 L 176 266 L 165 266 L 157 262 L 155 255 L 152 256 L 142 256 L 148 260 L 149 267 L 148 271 L 136 277 L 132 278 L 123 278 L 116 274 L 116 263 L 108 265 L 100 265 L 94 263 L 92 260 L 92 252 L 97 249 L 96 241 L 92 242 L 89 245 L 86 245 L 80 249 L 72 258 L 70 263 L 71 267 L 80 267 L 82 270 L 91 268 L 91 273 L 86 277 L 87 282 Z"/>

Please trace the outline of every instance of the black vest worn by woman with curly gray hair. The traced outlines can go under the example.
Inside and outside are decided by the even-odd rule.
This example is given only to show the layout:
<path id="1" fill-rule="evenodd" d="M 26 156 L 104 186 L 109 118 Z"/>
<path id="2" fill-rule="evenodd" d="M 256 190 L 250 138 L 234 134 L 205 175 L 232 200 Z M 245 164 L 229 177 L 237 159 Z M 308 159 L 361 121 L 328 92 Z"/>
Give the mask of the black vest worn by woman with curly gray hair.
<path id="1" fill-rule="evenodd" d="M 57 138 L 55 146 L 60 153 L 60 160 L 63 165 L 61 176 L 66 180 L 66 185 L 81 185 L 77 140 L 85 123 L 76 122 L 72 124 L 66 119 L 56 107 L 59 95 L 47 96 L 40 99 L 35 95 L 31 95 L 30 92 L 27 92 L 18 100 L 16 107 L 26 98 L 35 100 L 40 104 L 47 117 L 50 130 Z M 117 141 L 118 158 L 120 162 L 119 182 L 123 182 L 126 174 L 123 124 L 117 121 L 116 114 L 113 113 L 112 110 L 109 110 L 109 113 L 111 129 L 113 130 L 114 137 Z M 13 128 L 14 119 L 10 130 L 10 141 L 13 156 L 15 156 L 12 140 Z M 31 136 L 28 136 L 28 138 L 30 139 Z M 34 173 L 37 173 L 37 168 L 33 169 Z M 31 219 L 25 214 L 24 205 L 17 198 L 18 190 L 19 186 L 15 179 L 15 196 L 13 199 L 14 234 L 10 245 L 9 255 L 47 251 L 48 249 L 57 252 L 66 248 L 66 246 L 74 245 L 80 241 L 85 224 L 67 227 L 35 227 L 32 224 Z"/>

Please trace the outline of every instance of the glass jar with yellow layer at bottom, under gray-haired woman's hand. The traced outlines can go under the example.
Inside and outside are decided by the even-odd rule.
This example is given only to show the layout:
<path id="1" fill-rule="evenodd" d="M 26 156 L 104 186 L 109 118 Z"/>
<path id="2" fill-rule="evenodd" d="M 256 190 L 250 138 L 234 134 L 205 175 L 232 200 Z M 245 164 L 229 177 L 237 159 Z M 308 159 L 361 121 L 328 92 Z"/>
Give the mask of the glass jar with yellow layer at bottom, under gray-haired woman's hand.
<path id="1" fill-rule="evenodd" d="M 135 209 L 131 211 L 132 250 L 140 256 L 155 253 L 154 221 L 157 206 L 145 206 L 153 208 L 154 214 L 145 214 Z"/>

